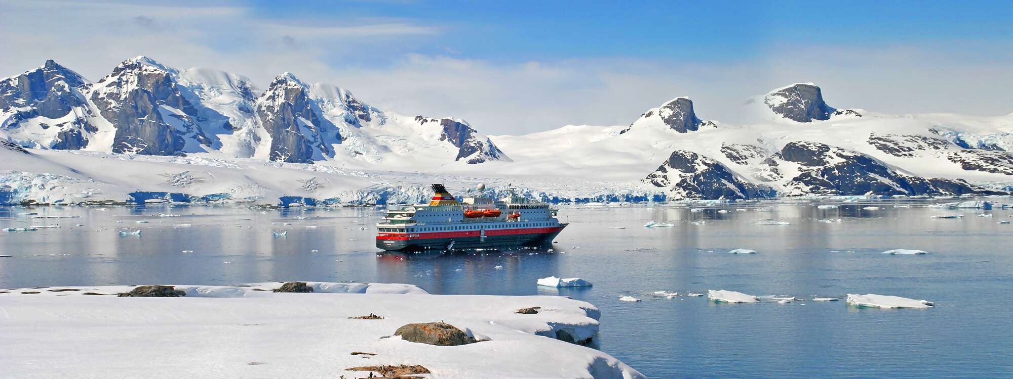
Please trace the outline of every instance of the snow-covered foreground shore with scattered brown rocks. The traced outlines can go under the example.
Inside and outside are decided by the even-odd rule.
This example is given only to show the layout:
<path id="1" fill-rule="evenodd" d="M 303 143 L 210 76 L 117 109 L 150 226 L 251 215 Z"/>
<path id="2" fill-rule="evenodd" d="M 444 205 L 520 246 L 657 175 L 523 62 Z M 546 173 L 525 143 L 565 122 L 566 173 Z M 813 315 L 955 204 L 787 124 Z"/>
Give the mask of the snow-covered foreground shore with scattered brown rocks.
<path id="1" fill-rule="evenodd" d="M 551 338 L 598 331 L 600 313 L 583 301 L 309 284 L 314 293 L 269 291 L 281 283 L 176 286 L 186 292 L 178 298 L 83 294 L 128 286 L 3 293 L 0 367 L 5 378 L 362 378 L 369 373 L 345 369 L 402 364 L 424 366 L 432 378 L 643 377 L 608 354 Z M 533 306 L 537 314 L 514 313 Z M 384 318 L 349 318 L 370 313 Z M 440 320 L 488 341 L 438 347 L 391 337 L 405 323 Z"/>

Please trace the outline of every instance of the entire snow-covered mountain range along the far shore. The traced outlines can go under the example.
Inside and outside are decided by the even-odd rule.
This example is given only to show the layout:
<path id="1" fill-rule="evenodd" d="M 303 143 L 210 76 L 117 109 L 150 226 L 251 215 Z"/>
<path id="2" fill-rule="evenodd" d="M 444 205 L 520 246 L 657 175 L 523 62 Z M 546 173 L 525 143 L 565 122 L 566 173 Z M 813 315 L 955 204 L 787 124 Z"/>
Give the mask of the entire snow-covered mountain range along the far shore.
<path id="1" fill-rule="evenodd" d="M 486 136 L 290 73 L 261 90 L 138 57 L 95 83 L 52 61 L 0 80 L 0 203 L 413 201 L 433 182 L 514 184 L 547 201 L 1013 189 L 1013 114 L 835 108 L 812 83 L 750 99 L 752 119 L 737 124 L 703 120 L 677 97 L 628 125 Z"/>

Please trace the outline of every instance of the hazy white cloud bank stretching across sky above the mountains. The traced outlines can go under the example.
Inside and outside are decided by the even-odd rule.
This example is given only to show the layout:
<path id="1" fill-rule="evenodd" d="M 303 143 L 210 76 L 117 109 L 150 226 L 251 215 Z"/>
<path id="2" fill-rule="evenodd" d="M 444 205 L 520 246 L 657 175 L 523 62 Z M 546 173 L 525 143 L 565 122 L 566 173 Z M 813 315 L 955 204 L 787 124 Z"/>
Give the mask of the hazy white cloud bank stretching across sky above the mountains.
<path id="1" fill-rule="evenodd" d="M 814 82 L 837 107 L 884 112 L 1013 111 L 1013 62 L 1003 46 L 952 41 L 925 46 L 773 46 L 762 58 L 714 64 L 636 59 L 499 63 L 408 54 L 412 41 L 439 41 L 443 29 L 403 19 L 294 24 L 239 6 L 0 2 L 0 75 L 47 59 L 91 80 L 124 59 L 213 67 L 266 85 L 289 71 L 329 82 L 363 101 L 406 114 L 455 116 L 491 133 L 564 124 L 628 124 L 676 96 L 694 99 L 704 119 L 741 120 L 752 95 Z M 441 20 L 435 20 L 439 22 Z M 449 24 L 449 23 L 448 23 Z M 466 32 L 466 31 L 462 31 Z M 679 49 L 679 45 L 658 49 Z M 346 62 L 369 61 L 374 65 Z M 708 60 L 714 61 L 714 60 Z"/>

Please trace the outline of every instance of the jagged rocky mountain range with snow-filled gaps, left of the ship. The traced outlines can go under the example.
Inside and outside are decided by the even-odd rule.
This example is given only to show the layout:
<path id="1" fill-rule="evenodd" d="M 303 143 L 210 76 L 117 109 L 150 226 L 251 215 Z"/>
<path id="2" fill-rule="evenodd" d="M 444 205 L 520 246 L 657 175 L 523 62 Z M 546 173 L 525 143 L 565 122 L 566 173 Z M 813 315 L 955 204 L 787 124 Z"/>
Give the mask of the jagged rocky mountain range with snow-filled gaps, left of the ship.
<path id="1" fill-rule="evenodd" d="M 53 61 L 0 81 L 0 136 L 34 149 L 250 158 L 405 170 L 510 162 L 467 122 L 382 111 L 345 89 L 290 73 L 263 91 L 206 68 L 147 57 L 89 83 Z"/>

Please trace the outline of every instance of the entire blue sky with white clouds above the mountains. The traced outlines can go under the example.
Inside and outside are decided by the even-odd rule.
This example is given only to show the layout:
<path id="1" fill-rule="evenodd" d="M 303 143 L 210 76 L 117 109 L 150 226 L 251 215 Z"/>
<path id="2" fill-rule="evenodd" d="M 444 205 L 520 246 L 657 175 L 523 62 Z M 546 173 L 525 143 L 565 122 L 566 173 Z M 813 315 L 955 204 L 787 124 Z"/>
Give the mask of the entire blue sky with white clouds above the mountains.
<path id="1" fill-rule="evenodd" d="M 1013 2 L 12 1 L 0 76 L 93 81 L 138 55 L 264 86 L 282 72 L 488 133 L 628 124 L 676 96 L 736 122 L 813 82 L 832 106 L 1013 112 Z M 16 53 L 10 53 L 16 52 Z"/>

